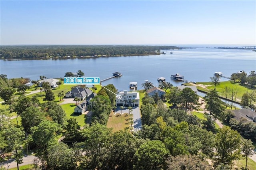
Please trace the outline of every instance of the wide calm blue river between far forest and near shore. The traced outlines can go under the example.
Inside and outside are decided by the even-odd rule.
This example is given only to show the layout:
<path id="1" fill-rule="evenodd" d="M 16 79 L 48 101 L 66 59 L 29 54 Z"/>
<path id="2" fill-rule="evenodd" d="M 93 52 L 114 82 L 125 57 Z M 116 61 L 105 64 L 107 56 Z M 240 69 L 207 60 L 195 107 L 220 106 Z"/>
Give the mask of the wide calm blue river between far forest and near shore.
<path id="1" fill-rule="evenodd" d="M 138 82 L 138 89 L 145 80 L 158 85 L 158 77 L 176 85 L 170 75 L 180 73 L 189 81 L 210 81 L 216 71 L 226 76 L 240 70 L 249 73 L 256 70 L 256 52 L 242 49 L 182 49 L 163 50 L 166 54 L 132 57 L 107 57 L 86 59 L 48 60 L 0 60 L 0 73 L 8 78 L 28 77 L 38 80 L 40 75 L 48 78 L 64 77 L 66 72 L 82 70 L 86 77 L 111 77 L 118 71 L 122 77 L 115 77 L 102 83 L 114 84 L 119 90 L 129 89 L 130 81 Z M 170 51 L 173 53 L 170 54 Z M 222 78 L 221 81 L 227 79 Z"/>

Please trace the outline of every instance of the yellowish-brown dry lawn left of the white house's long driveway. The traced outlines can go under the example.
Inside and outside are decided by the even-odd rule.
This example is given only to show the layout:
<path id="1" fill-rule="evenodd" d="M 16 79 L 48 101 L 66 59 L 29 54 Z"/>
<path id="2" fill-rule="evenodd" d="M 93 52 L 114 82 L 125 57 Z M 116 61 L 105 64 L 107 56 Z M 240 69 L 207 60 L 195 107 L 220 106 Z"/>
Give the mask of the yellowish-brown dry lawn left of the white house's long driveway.
<path id="1" fill-rule="evenodd" d="M 116 132 L 119 130 L 124 130 L 126 127 L 129 127 L 129 117 L 130 115 L 128 113 L 123 113 L 122 115 L 117 113 L 114 115 L 114 112 L 110 113 L 108 117 L 108 128 L 113 128 L 112 131 Z"/>

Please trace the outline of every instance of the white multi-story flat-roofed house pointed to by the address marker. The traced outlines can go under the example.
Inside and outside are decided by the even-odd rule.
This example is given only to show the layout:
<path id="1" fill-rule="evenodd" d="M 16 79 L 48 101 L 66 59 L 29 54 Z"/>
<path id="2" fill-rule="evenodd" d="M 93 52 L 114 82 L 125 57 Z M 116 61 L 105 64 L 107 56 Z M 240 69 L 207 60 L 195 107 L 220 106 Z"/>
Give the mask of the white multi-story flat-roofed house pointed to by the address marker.
<path id="1" fill-rule="evenodd" d="M 121 96 L 121 99 L 118 99 L 118 96 Z M 136 91 L 128 92 L 127 90 L 120 91 L 116 96 L 116 105 L 117 106 L 138 106 L 140 103 L 140 94 Z"/>

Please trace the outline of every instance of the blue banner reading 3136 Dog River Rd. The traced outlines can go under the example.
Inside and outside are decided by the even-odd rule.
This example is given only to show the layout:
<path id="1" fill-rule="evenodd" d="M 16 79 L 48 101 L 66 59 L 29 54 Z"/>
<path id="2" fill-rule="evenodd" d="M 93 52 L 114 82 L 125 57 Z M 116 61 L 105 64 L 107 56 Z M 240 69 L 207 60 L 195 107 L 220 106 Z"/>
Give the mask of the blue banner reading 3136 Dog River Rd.
<path id="1" fill-rule="evenodd" d="M 100 84 L 99 77 L 64 77 L 63 84 Z"/>

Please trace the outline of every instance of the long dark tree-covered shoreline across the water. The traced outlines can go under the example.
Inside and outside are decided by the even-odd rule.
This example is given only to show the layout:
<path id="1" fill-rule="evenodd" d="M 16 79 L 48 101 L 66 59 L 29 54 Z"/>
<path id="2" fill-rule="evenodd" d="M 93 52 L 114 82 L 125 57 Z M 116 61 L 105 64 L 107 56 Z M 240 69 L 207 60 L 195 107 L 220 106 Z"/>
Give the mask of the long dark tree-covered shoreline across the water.
<path id="1" fill-rule="evenodd" d="M 155 55 L 156 51 L 159 54 L 161 49 L 178 49 L 178 47 L 159 45 L 5 45 L 0 48 L 0 58 Z"/>

